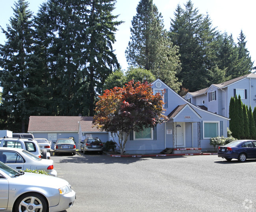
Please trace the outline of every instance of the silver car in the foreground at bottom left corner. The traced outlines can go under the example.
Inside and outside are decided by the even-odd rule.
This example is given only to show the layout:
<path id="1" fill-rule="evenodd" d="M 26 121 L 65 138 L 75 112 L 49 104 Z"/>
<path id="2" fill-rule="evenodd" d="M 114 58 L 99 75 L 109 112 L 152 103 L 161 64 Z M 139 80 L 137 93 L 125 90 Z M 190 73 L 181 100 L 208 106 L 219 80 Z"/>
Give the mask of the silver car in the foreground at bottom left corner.
<path id="1" fill-rule="evenodd" d="M 40 183 L 39 183 L 40 182 Z M 76 193 L 61 178 L 17 172 L 0 162 L 1 211 L 63 211 L 70 208 Z"/>

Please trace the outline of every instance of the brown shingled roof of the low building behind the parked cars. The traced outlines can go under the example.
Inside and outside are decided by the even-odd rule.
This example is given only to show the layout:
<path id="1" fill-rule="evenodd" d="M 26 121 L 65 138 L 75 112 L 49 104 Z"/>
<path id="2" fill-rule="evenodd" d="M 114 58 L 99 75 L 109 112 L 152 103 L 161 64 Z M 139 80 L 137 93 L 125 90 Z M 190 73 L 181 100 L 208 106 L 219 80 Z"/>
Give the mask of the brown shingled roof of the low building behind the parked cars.
<path id="1" fill-rule="evenodd" d="M 92 128 L 92 116 L 30 116 L 28 132 L 100 132 Z"/>

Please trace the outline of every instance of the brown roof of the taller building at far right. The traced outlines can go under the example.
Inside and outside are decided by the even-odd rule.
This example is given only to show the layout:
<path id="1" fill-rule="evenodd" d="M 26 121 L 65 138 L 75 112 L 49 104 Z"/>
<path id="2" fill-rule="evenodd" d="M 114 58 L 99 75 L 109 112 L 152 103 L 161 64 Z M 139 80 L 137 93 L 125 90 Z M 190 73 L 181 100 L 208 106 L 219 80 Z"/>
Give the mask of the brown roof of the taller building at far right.
<path id="1" fill-rule="evenodd" d="M 228 80 L 226 82 L 222 82 L 222 83 L 219 83 L 219 84 L 211 84 L 211 86 L 215 86 L 219 89 L 221 88 L 225 88 L 226 86 L 229 86 L 230 84 L 234 83 L 234 82 L 237 82 L 239 80 L 243 80 L 245 78 L 256 78 L 256 74 L 254 73 L 249 73 L 247 75 L 243 75 L 241 77 L 237 77 L 235 79 L 232 79 L 232 80 Z M 211 87 L 209 86 L 208 88 L 204 88 L 202 90 L 198 90 L 198 91 L 195 91 L 195 92 L 188 92 L 190 95 L 192 95 L 193 97 L 196 97 L 196 96 L 199 96 L 199 95 L 202 95 L 204 93 L 207 92 L 207 90 Z"/>

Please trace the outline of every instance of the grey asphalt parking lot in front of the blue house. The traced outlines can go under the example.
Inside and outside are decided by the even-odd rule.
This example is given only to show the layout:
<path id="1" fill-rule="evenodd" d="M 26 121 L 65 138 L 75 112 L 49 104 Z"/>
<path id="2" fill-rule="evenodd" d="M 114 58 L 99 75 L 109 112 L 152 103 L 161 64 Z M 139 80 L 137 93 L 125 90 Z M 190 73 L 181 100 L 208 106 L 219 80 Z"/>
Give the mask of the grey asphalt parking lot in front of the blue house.
<path id="1" fill-rule="evenodd" d="M 115 158 L 52 156 L 78 211 L 256 211 L 256 160 L 217 155 Z"/>

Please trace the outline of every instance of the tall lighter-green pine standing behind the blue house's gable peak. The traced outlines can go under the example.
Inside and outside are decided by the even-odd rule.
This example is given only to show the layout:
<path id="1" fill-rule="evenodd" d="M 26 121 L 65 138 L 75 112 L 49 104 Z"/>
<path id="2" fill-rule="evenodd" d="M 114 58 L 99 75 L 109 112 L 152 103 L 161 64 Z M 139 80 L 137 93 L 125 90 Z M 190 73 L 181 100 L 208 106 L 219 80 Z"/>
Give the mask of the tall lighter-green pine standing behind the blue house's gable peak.
<path id="1" fill-rule="evenodd" d="M 150 70 L 173 90 L 180 90 L 178 48 L 164 29 L 163 17 L 152 0 L 141 0 L 132 19 L 131 41 L 125 51 L 129 65 Z"/>

